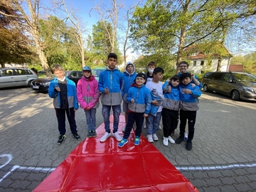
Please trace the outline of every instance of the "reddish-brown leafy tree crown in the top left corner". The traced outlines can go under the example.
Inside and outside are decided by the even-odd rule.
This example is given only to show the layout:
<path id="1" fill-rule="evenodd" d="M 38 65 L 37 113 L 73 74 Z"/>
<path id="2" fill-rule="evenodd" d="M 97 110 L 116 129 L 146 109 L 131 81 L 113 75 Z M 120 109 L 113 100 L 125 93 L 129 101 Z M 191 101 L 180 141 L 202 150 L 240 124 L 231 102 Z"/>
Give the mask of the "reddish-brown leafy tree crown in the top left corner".
<path id="1" fill-rule="evenodd" d="M 35 54 L 31 41 L 24 35 L 18 11 L 11 1 L 0 3 L 0 65 L 5 63 L 28 63 Z"/>

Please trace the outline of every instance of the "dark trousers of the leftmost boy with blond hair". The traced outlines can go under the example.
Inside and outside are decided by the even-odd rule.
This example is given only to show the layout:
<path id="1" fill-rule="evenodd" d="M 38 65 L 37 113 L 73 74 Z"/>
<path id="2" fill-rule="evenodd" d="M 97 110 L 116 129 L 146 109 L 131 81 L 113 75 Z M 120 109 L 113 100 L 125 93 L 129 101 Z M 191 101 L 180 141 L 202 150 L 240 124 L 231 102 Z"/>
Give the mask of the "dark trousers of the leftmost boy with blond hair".
<path id="1" fill-rule="evenodd" d="M 78 133 L 77 131 L 77 126 L 75 124 L 75 111 L 74 108 L 70 108 L 68 110 L 62 110 L 62 109 L 56 109 L 56 116 L 58 119 L 58 130 L 60 134 L 65 134 L 66 129 L 65 129 L 65 114 L 67 114 L 68 117 L 68 123 L 70 124 L 70 130 L 72 134 Z"/>

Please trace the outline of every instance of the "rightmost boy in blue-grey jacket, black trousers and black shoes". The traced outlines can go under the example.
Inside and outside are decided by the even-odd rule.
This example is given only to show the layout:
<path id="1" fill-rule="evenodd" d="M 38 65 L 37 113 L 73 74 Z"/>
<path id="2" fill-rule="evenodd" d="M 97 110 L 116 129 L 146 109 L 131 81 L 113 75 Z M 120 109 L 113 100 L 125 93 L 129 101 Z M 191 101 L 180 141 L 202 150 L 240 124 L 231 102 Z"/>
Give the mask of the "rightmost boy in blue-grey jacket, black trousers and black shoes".
<path id="1" fill-rule="evenodd" d="M 199 87 L 192 86 L 191 73 L 182 73 L 180 77 L 181 84 L 179 85 L 181 92 L 181 110 L 180 110 L 180 137 L 176 139 L 176 144 L 181 144 L 184 141 L 184 132 L 188 119 L 188 141 L 186 149 L 192 149 L 192 139 L 195 132 L 196 111 L 199 110 L 197 98 L 201 96 Z"/>

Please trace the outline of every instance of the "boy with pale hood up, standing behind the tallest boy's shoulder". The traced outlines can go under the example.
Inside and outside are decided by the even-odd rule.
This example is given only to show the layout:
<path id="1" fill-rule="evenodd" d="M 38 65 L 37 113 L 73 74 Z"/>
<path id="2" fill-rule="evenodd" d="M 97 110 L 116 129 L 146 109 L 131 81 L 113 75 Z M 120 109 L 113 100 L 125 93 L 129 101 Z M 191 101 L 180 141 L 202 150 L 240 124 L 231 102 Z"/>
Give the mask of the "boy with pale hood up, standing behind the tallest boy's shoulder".
<path id="1" fill-rule="evenodd" d="M 136 75 L 137 74 L 135 73 L 134 64 L 132 63 L 132 61 L 128 61 L 124 71 L 124 89 L 122 91 L 122 96 L 124 101 L 123 111 L 124 111 L 124 117 L 125 117 L 125 124 L 127 124 L 128 122 L 128 102 L 126 100 L 127 92 L 129 90 L 129 87 L 131 87 L 132 83 L 134 82 Z"/>

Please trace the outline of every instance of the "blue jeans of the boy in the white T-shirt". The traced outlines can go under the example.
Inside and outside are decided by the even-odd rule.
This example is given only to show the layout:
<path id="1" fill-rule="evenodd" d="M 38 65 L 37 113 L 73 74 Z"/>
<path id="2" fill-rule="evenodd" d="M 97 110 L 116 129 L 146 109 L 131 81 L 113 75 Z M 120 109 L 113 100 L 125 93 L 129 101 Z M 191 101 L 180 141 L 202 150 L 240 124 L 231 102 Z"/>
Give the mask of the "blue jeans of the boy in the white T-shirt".
<path id="1" fill-rule="evenodd" d="M 146 132 L 147 134 L 155 134 L 159 129 L 161 119 L 161 112 L 157 112 L 156 116 L 149 113 L 149 116 L 146 117 Z"/>

